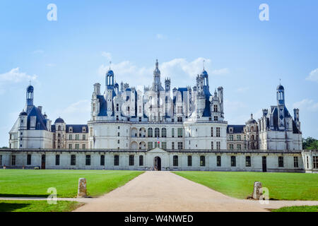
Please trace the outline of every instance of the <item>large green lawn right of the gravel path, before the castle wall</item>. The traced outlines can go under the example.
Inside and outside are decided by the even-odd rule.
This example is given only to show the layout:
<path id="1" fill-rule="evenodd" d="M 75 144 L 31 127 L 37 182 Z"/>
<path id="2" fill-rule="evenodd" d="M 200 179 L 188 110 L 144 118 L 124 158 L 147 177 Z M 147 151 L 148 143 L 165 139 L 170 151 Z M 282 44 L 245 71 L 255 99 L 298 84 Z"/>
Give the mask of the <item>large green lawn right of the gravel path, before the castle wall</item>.
<path id="1" fill-rule="evenodd" d="M 269 189 L 269 198 L 277 200 L 318 201 L 318 174 L 263 172 L 175 172 L 189 180 L 235 198 L 252 195 L 259 181 Z"/>

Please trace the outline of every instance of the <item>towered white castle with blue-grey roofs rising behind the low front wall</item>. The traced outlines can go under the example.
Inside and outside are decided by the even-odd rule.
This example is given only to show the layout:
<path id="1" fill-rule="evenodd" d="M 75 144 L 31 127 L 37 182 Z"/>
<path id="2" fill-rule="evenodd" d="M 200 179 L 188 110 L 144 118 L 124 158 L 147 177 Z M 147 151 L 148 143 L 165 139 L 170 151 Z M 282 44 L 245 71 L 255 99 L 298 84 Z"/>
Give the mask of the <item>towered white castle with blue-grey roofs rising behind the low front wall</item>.
<path id="1" fill-rule="evenodd" d="M 245 124 L 230 125 L 225 121 L 224 90 L 218 87 L 213 95 L 210 93 L 205 69 L 196 76 L 193 87 L 171 90 L 170 78 L 165 78 L 163 87 L 160 77 L 157 60 L 153 84 L 136 90 L 127 83 L 116 83 L 114 71 L 110 69 L 105 76 L 105 92 L 101 92 L 100 83 L 94 84 L 90 121 L 81 125 L 66 124 L 60 117 L 52 124 L 42 113 L 42 107 L 35 107 L 34 88 L 29 85 L 25 108 L 9 132 L 9 148 L 69 153 L 107 151 L 117 153 L 116 156 L 153 150 L 193 155 L 227 151 L 302 151 L 299 109 L 294 109 L 294 117 L 290 116 L 285 107 L 283 85 L 278 85 L 276 89 L 277 104 L 263 109 L 261 119 L 255 120 L 251 115 Z M 128 158 L 127 162 L 131 164 L 133 159 Z M 201 156 L 198 158 L 198 162 L 204 162 L 205 166 L 206 160 Z M 172 163 L 167 165 L 176 165 L 175 161 L 172 159 Z M 158 167 L 158 158 L 155 162 Z M 192 160 L 188 159 L 187 163 L 190 162 Z"/>

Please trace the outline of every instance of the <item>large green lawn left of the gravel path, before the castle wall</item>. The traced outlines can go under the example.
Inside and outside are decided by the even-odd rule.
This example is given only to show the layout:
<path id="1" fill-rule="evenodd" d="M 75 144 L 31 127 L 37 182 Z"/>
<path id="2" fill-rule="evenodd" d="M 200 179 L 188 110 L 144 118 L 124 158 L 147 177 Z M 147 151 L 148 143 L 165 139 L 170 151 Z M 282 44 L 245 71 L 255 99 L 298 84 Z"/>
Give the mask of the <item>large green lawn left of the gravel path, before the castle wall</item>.
<path id="1" fill-rule="evenodd" d="M 100 196 L 123 186 L 143 172 L 119 170 L 1 169 L 0 197 L 47 197 L 57 189 L 58 198 L 77 196 L 78 179 L 86 178 L 88 196 Z"/>

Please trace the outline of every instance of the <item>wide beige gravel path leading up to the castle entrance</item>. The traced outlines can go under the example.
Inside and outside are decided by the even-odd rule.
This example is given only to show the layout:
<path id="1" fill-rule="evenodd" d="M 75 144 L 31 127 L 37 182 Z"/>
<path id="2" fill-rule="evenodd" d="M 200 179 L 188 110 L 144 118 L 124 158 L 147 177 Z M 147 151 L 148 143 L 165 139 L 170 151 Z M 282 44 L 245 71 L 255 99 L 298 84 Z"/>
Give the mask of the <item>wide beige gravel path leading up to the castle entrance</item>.
<path id="1" fill-rule="evenodd" d="M 0 198 L 1 200 L 45 200 L 46 198 Z M 77 212 L 262 212 L 283 206 L 318 206 L 318 201 L 259 201 L 225 196 L 171 172 L 148 171 L 100 198 L 58 198 L 86 203 Z"/>

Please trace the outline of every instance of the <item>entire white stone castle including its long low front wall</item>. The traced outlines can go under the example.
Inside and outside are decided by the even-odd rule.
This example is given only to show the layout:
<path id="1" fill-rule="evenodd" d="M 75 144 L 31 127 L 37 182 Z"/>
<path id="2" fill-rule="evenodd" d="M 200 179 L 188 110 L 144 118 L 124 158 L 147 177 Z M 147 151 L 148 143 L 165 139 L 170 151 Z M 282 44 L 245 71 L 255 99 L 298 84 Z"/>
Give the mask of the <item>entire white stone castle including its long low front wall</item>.
<path id="1" fill-rule="evenodd" d="M 34 88 L 28 86 L 25 108 L 9 132 L 9 151 L 0 152 L 0 165 L 6 162 L 7 166 L 30 166 L 40 161 L 37 165 L 43 167 L 44 161 L 46 168 L 143 169 L 158 168 L 160 163 L 160 169 L 165 165 L 165 169 L 179 170 L 264 171 L 264 158 L 257 159 L 261 157 L 259 153 L 266 153 L 279 160 L 272 167 L 265 160 L 265 171 L 308 171 L 316 167 L 313 152 L 308 155 L 312 168 L 307 169 L 310 165 L 303 158 L 299 110 L 294 109 L 294 117 L 290 116 L 282 85 L 276 89 L 277 105 L 264 109 L 261 119 L 256 121 L 252 116 L 245 125 L 229 125 L 224 120 L 223 88 L 216 88 L 211 95 L 205 70 L 196 77 L 196 84 L 187 88 L 171 90 L 170 78 L 165 79 L 163 87 L 160 77 L 158 61 L 153 84 L 143 90 L 127 83 L 119 85 L 114 81 L 114 72 L 107 71 L 105 92 L 102 93 L 100 83 L 95 83 L 90 121 L 81 125 L 66 124 L 61 118 L 52 124 L 42 114 L 42 107 L 33 104 Z M 78 165 L 76 156 L 84 153 L 83 165 Z M 33 155 L 41 157 L 32 161 Z M 237 160 L 239 155 L 242 159 Z M 285 165 L 278 155 L 286 156 Z M 121 158 L 125 160 L 119 161 Z M 71 164 L 74 161 L 75 165 Z M 222 168 L 220 162 L 229 163 L 223 163 Z"/>

